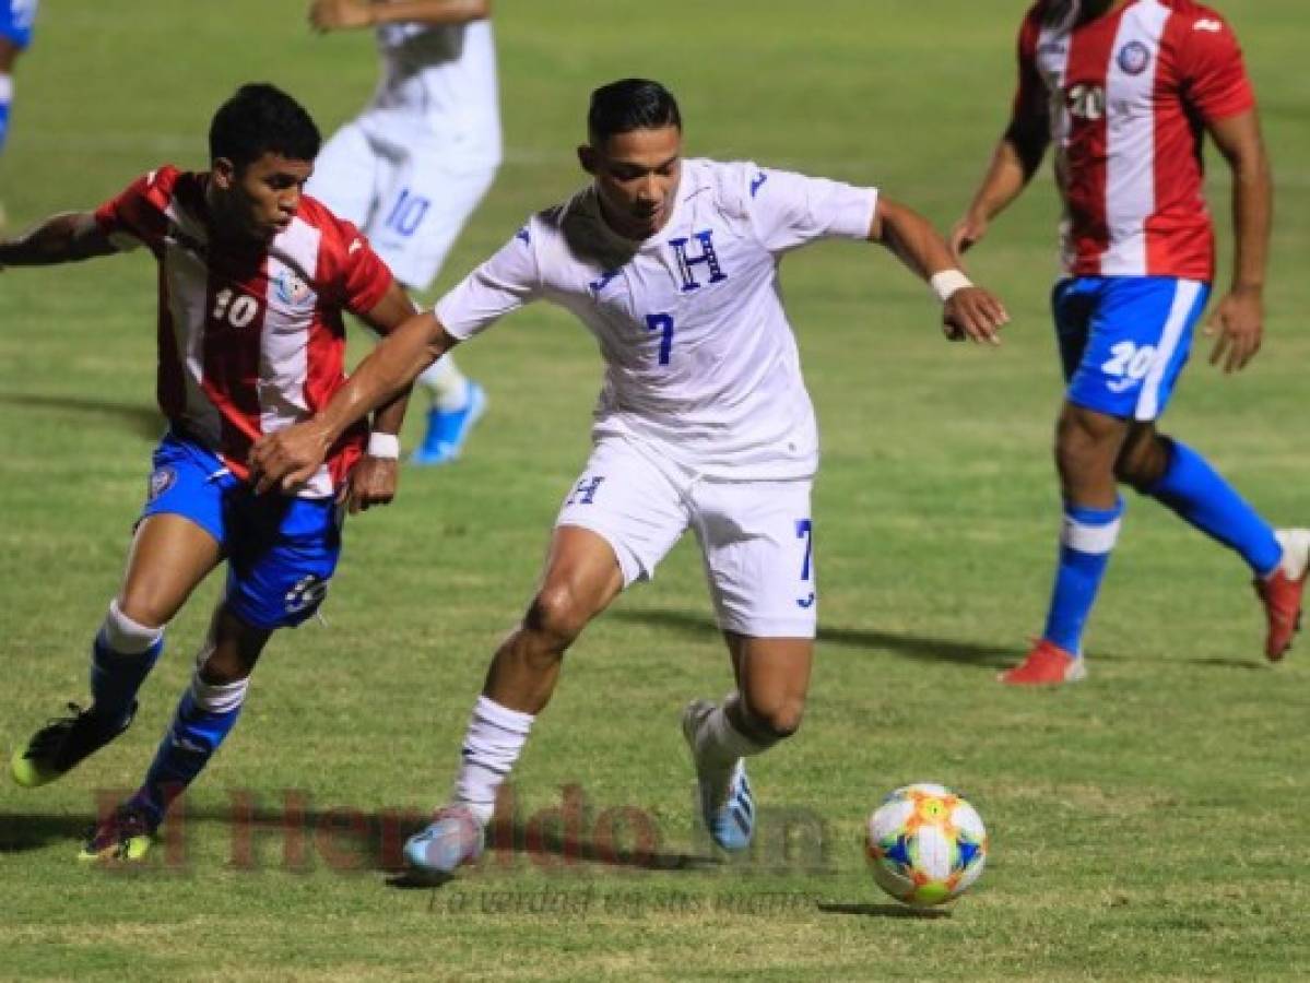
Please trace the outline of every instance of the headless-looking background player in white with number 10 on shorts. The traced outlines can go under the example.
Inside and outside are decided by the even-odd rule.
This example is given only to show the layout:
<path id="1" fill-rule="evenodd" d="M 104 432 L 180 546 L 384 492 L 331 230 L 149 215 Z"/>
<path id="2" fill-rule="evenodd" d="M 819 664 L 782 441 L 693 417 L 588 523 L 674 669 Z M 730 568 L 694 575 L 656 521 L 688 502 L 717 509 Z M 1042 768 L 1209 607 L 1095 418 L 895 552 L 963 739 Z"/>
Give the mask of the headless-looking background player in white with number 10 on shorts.
<path id="1" fill-rule="evenodd" d="M 375 27 L 383 76 L 314 162 L 309 192 L 356 223 L 410 291 L 436 279 L 500 166 L 490 0 L 314 0 L 320 31 Z M 453 356 L 419 377 L 431 408 L 411 461 L 458 457 L 486 408 Z"/>

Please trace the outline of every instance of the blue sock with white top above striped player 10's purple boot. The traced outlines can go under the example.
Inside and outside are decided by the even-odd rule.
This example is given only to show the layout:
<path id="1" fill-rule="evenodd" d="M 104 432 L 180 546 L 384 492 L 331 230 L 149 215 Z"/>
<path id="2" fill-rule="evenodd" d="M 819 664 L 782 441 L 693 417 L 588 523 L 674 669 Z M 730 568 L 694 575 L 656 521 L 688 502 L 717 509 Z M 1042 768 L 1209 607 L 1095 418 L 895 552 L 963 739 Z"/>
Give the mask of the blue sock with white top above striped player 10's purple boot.
<path id="1" fill-rule="evenodd" d="M 145 813 L 152 826 L 164 821 L 173 800 L 204 770 L 236 725 L 248 682 L 241 679 L 217 686 L 200 679 L 199 671 L 193 677 L 191 686 L 177 704 L 173 724 L 145 772 L 145 781 L 130 800 Z"/>

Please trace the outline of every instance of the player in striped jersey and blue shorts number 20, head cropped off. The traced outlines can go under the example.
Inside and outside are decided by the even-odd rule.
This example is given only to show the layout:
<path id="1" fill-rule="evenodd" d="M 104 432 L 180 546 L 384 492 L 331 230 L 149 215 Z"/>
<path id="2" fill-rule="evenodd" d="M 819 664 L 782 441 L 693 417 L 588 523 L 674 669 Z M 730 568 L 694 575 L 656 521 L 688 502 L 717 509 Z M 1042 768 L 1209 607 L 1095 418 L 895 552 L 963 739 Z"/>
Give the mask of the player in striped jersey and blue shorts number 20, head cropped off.
<path id="1" fill-rule="evenodd" d="M 1282 657 L 1301 611 L 1310 531 L 1275 531 L 1197 452 L 1155 429 L 1214 279 L 1201 140 L 1233 171 L 1233 281 L 1210 317 L 1210 364 L 1260 347 L 1271 179 L 1233 30 L 1192 0 L 1040 0 L 1019 33 L 1019 88 L 990 169 L 951 242 L 981 240 L 1056 145 L 1064 263 L 1052 306 L 1068 382 L 1056 428 L 1064 526 L 1041 637 L 1011 685 L 1081 679 L 1082 634 L 1119 537 L 1123 482 L 1234 550 Z"/>

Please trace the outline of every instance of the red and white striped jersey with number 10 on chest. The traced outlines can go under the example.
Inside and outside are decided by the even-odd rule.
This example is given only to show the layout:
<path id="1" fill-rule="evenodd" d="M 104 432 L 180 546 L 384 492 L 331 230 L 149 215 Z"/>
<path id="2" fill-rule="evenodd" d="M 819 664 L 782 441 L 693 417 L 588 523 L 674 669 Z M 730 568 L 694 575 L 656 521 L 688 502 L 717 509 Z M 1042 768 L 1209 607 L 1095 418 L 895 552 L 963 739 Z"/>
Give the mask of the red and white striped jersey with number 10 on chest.
<path id="1" fill-rule="evenodd" d="M 259 436 L 308 419 L 345 382 L 342 310 L 372 309 L 392 275 L 354 225 L 312 198 L 269 243 L 216 242 L 207 181 L 160 168 L 96 220 L 115 245 L 144 243 L 159 260 L 160 410 L 246 478 Z M 365 435 L 351 428 L 301 496 L 331 495 Z"/>

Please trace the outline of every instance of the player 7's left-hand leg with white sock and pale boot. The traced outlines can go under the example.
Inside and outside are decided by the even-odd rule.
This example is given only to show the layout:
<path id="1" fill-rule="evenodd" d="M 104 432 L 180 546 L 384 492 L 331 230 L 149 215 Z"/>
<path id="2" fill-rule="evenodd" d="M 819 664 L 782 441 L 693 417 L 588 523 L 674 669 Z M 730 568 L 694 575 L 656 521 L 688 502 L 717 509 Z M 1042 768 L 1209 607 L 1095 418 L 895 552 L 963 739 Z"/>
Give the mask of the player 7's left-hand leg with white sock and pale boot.
<path id="1" fill-rule="evenodd" d="M 482 852 L 496 791 L 550 702 L 565 652 L 622 589 L 618 558 L 603 537 L 576 526 L 555 529 L 541 586 L 496 649 L 473 708 L 453 801 L 405 844 L 415 868 L 448 874 Z"/>

